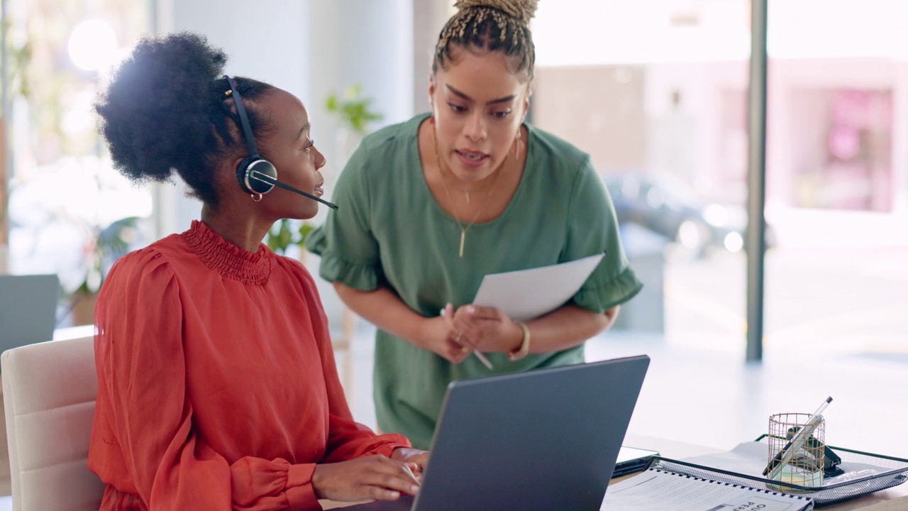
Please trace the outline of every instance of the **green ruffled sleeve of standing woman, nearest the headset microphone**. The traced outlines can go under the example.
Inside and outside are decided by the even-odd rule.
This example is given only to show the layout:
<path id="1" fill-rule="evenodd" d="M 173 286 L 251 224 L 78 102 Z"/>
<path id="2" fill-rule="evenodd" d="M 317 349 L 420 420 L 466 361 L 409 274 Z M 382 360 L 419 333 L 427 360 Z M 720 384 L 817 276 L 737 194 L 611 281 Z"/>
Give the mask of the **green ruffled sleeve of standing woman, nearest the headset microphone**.
<path id="1" fill-rule="evenodd" d="M 350 156 L 332 195 L 338 209 L 306 237 L 306 248 L 321 256 L 319 275 L 361 291 L 379 287 L 379 244 L 370 227 L 367 151 L 360 147 Z"/>

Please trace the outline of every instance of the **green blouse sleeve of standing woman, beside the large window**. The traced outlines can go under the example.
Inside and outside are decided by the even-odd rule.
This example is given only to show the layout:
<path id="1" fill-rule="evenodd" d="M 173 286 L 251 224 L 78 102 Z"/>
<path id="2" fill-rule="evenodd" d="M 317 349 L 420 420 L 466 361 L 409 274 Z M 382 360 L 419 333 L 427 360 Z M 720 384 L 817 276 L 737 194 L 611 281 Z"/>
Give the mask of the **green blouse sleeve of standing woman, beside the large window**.
<path id="1" fill-rule="evenodd" d="M 615 206 L 588 157 L 572 186 L 567 242 L 565 261 L 606 252 L 602 262 L 573 296 L 577 306 L 602 313 L 627 302 L 643 288 L 634 270 L 627 265 Z"/>

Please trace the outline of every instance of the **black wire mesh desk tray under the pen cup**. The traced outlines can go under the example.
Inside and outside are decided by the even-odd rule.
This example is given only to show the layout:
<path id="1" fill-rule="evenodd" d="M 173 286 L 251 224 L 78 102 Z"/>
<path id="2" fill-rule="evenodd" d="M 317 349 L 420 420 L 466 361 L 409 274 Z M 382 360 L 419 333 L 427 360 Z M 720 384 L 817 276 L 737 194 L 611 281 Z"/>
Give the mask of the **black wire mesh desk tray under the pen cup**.
<path id="1" fill-rule="evenodd" d="M 760 436 L 756 441 L 763 441 L 766 435 Z M 786 483 L 789 487 L 785 493 L 809 496 L 814 499 L 814 506 L 829 506 L 853 499 L 858 496 L 864 496 L 878 492 L 893 486 L 899 486 L 908 481 L 908 459 L 893 456 L 874 455 L 846 449 L 844 447 L 829 446 L 839 456 L 842 457 L 843 463 L 860 463 L 879 467 L 881 472 L 869 476 L 861 476 L 842 482 L 824 481 L 823 487 L 817 489 L 815 486 L 798 486 Z M 731 483 L 741 486 L 751 486 L 757 489 L 766 489 L 769 491 L 778 491 L 778 481 L 766 479 L 764 477 L 749 476 L 739 474 L 709 466 L 696 465 L 676 459 L 662 456 L 653 456 L 646 464 L 646 468 L 658 468 L 668 472 L 676 472 L 686 476 L 696 476 L 702 479 L 712 479 L 723 483 Z"/>

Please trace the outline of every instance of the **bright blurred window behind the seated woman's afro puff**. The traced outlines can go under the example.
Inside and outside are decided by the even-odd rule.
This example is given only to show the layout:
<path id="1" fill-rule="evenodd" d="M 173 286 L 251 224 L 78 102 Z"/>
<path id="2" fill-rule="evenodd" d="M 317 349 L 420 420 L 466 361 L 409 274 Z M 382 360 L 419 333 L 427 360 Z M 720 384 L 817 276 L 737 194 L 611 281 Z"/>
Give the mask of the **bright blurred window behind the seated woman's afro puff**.
<path id="1" fill-rule="evenodd" d="M 104 72 L 149 28 L 148 2 L 9 0 L 6 119 L 9 269 L 56 273 L 60 326 L 90 322 L 90 303 L 114 258 L 142 243 L 151 195 L 114 171 L 93 104 Z M 87 301 L 81 298 L 87 296 Z"/>

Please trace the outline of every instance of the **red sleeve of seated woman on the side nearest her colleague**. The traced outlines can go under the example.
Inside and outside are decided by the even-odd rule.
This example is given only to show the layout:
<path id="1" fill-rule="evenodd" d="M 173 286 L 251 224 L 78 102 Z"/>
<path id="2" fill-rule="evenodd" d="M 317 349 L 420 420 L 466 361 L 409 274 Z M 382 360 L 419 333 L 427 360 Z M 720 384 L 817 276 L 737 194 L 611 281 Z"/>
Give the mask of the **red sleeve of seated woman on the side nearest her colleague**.
<path id="1" fill-rule="evenodd" d="M 301 281 L 303 301 L 310 308 L 312 331 L 315 332 L 321 355 L 329 405 L 328 446 L 325 451 L 325 463 L 345 461 L 361 456 L 390 457 L 394 449 L 410 447 L 410 440 L 406 436 L 376 435 L 368 426 L 363 426 L 353 420 L 334 360 L 328 317 L 325 316 L 324 309 L 320 305 L 321 298 L 315 281 L 297 261 L 281 258 L 281 263 L 291 265 L 291 271 L 296 273 Z"/>

